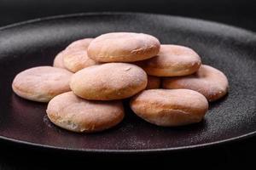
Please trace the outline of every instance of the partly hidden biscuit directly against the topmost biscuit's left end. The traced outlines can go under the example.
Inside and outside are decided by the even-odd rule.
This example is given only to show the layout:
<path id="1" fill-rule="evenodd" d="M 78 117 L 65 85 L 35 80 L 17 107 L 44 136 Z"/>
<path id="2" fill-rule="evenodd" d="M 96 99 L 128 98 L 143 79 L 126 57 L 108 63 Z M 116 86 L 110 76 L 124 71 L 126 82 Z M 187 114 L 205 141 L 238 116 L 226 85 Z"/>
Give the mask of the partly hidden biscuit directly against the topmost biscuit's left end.
<path id="1" fill-rule="evenodd" d="M 92 38 L 84 38 L 72 42 L 63 51 L 63 62 L 69 71 L 76 72 L 85 67 L 97 64 L 95 60 L 87 56 L 87 48 L 92 40 Z"/>

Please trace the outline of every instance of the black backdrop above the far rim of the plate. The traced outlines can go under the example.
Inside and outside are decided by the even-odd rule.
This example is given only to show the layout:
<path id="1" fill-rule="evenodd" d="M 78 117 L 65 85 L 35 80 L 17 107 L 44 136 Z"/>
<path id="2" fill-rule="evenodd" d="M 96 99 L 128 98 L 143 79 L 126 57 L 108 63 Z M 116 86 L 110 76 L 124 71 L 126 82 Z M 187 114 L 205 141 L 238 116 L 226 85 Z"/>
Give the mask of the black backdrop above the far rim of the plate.
<path id="1" fill-rule="evenodd" d="M 255 0 L 0 0 L 0 26 L 49 15 L 96 11 L 181 15 L 256 31 Z"/>

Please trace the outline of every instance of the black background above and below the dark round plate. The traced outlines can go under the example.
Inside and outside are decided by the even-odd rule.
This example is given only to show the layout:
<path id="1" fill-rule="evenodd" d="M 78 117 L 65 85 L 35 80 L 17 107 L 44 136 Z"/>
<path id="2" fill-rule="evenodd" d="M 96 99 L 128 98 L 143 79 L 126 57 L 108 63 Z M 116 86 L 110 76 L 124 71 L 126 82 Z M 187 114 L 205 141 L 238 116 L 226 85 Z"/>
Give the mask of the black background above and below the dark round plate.
<path id="1" fill-rule="evenodd" d="M 255 0 L 0 0 L 0 26 L 50 15 L 98 11 L 180 15 L 218 21 L 256 31 Z M 49 169 L 49 167 L 75 169 L 79 166 L 88 168 L 89 164 L 95 167 L 112 166 L 119 162 L 124 163 L 126 167 L 135 166 L 131 161 L 137 161 L 143 166 L 154 165 L 159 168 L 160 166 L 169 168 L 178 166 L 199 169 L 218 167 L 246 169 L 253 166 L 255 151 L 255 137 L 207 149 L 153 156 L 78 156 L 73 153 L 35 150 L 0 142 L 0 169 Z M 95 161 L 96 163 L 92 163 Z"/>

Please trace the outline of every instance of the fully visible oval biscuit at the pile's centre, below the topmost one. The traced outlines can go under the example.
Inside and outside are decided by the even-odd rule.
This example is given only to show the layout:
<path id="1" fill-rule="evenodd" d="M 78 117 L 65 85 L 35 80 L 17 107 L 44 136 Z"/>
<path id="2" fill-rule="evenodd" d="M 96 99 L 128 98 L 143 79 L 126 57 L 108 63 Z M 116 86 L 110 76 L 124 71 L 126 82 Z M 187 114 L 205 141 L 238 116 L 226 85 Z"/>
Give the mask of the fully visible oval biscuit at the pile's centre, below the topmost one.
<path id="1" fill-rule="evenodd" d="M 147 74 L 137 65 L 108 63 L 76 72 L 70 82 L 74 94 L 84 99 L 125 99 L 147 86 Z"/>

